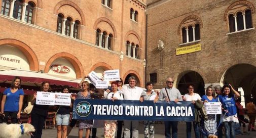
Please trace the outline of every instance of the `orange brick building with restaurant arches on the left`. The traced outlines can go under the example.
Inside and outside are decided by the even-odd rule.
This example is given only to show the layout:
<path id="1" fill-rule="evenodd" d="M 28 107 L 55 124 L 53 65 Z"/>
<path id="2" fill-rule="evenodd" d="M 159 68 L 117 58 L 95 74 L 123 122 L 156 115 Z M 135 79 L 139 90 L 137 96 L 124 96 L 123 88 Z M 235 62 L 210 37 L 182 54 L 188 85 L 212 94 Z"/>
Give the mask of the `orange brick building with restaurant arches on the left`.
<path id="1" fill-rule="evenodd" d="M 146 0 L 0 3 L 0 70 L 70 80 L 120 69 L 123 80 L 134 75 L 143 86 Z"/>

